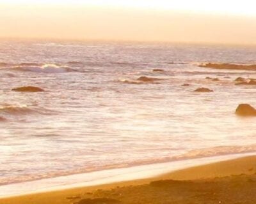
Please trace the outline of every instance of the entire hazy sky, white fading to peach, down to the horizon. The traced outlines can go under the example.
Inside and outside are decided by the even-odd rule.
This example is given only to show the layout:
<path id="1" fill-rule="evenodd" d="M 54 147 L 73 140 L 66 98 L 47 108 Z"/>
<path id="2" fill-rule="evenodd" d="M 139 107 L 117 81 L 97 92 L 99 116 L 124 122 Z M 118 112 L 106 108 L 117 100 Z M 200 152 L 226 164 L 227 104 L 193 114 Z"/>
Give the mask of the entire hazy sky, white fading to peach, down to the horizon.
<path id="1" fill-rule="evenodd" d="M 252 0 L 0 0 L 0 37 L 256 44 Z"/>

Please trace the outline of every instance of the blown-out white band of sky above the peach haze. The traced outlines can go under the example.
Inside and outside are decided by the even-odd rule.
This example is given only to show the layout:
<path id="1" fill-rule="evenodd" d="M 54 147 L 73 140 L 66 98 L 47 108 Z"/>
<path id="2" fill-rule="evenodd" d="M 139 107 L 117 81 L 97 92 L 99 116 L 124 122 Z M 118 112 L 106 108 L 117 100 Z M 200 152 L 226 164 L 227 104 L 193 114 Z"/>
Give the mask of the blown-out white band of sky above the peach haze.
<path id="1" fill-rule="evenodd" d="M 256 15 L 254 0 L 0 0 L 8 4 L 84 4 L 93 6 L 122 6 L 178 11 L 202 11 Z"/>

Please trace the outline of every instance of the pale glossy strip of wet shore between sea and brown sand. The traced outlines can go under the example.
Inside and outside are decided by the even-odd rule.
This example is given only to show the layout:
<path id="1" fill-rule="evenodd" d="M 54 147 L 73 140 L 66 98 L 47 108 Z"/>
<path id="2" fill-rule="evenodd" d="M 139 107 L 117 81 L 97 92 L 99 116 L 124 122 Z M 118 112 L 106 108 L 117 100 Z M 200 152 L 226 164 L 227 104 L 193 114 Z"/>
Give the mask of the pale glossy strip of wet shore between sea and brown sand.
<path id="1" fill-rule="evenodd" d="M 17 196 L 29 196 L 32 194 L 44 194 L 57 191 L 67 191 L 83 187 L 97 187 L 113 185 L 116 183 L 143 182 L 152 180 L 161 175 L 170 174 L 175 171 L 182 171 L 188 168 L 196 168 L 232 159 L 256 156 L 256 153 L 228 154 L 225 156 L 203 157 L 198 159 L 186 159 L 167 163 L 147 164 L 129 168 L 113 170 L 94 171 L 51 179 L 34 180 L 17 184 L 0 186 L 0 201 L 2 199 Z"/>

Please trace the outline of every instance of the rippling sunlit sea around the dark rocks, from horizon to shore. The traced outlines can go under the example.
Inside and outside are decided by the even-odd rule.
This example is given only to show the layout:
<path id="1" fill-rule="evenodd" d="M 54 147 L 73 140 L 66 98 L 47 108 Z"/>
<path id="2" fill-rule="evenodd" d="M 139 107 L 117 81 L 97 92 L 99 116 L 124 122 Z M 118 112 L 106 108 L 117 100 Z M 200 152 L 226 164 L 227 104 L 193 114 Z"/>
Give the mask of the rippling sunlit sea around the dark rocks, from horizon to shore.
<path id="1" fill-rule="evenodd" d="M 234 114 L 256 107 L 234 84 L 256 71 L 203 62 L 256 64 L 256 47 L 0 41 L 0 185 L 256 152 L 256 118 Z M 12 91 L 26 85 L 45 92 Z"/>

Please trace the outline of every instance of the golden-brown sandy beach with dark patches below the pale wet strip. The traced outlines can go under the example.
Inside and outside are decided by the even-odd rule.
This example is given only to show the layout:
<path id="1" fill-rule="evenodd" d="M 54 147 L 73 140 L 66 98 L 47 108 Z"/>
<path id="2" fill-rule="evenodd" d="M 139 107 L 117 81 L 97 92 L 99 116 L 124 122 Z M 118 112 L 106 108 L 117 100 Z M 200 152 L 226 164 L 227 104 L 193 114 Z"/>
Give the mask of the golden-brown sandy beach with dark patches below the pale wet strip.
<path id="1" fill-rule="evenodd" d="M 256 156 L 174 171 L 152 179 L 29 194 L 2 204 L 232 203 L 256 201 Z"/>

